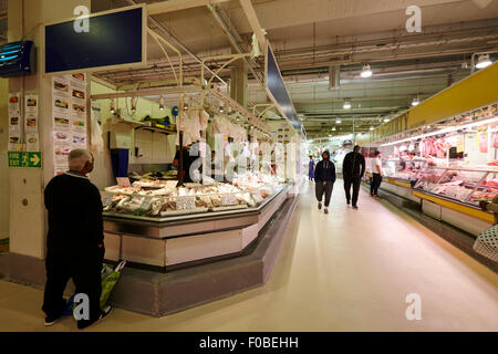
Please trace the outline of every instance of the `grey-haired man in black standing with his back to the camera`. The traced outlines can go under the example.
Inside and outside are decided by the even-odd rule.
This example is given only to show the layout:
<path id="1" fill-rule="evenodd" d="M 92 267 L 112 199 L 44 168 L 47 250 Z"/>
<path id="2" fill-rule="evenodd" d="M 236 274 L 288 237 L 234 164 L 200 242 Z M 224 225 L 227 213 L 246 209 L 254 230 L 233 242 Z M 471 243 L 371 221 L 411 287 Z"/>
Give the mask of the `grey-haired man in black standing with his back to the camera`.
<path id="1" fill-rule="evenodd" d="M 104 258 L 102 200 L 86 174 L 93 170 L 93 155 L 74 149 L 69 155 L 70 170 L 52 178 L 44 197 L 49 211 L 46 237 L 46 283 L 42 310 L 45 325 L 54 324 L 65 308 L 63 292 L 70 278 L 76 294 L 86 294 L 89 317 L 77 321 L 84 329 L 111 312 L 101 310 L 101 270 Z"/>

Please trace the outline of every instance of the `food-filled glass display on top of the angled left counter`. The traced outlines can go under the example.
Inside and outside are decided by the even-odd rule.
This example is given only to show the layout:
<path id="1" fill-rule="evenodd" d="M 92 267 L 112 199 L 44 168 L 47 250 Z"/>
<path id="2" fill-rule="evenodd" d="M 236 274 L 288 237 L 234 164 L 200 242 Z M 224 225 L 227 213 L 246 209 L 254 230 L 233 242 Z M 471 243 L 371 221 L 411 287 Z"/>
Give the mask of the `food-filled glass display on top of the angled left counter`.
<path id="1" fill-rule="evenodd" d="M 104 216 L 163 221 L 167 217 L 257 208 L 278 194 L 282 184 L 236 179 L 235 185 L 184 184 L 142 179 L 129 187 L 113 186 L 102 192 Z"/>

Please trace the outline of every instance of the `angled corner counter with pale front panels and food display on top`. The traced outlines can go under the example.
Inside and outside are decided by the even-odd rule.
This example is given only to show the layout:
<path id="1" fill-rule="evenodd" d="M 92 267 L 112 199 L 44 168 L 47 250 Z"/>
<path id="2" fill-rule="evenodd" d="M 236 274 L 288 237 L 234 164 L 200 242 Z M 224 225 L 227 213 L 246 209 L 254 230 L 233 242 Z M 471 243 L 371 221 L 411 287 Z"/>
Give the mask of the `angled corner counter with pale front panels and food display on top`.
<path id="1" fill-rule="evenodd" d="M 136 181 L 102 192 L 106 258 L 166 271 L 243 252 L 291 196 L 273 178 Z"/>

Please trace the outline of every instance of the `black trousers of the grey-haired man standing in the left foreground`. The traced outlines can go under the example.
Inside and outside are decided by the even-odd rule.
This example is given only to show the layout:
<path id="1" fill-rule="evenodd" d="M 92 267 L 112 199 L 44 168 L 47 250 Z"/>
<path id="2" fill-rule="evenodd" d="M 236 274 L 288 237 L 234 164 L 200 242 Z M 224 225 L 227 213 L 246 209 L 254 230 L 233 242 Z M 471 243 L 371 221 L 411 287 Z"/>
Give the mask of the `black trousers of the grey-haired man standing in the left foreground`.
<path id="1" fill-rule="evenodd" d="M 98 252 L 100 253 L 100 252 Z M 76 287 L 76 294 L 84 293 L 90 301 L 90 319 L 95 321 L 102 314 L 100 299 L 102 293 L 101 271 L 102 257 L 95 254 L 70 254 L 50 252 L 45 260 L 46 283 L 42 310 L 48 316 L 59 317 L 65 308 L 63 298 L 65 285 L 70 279 Z"/>

